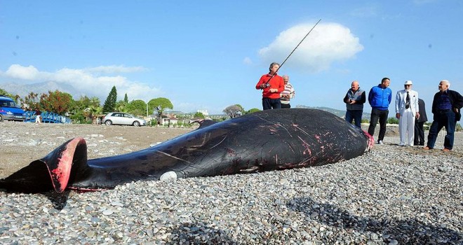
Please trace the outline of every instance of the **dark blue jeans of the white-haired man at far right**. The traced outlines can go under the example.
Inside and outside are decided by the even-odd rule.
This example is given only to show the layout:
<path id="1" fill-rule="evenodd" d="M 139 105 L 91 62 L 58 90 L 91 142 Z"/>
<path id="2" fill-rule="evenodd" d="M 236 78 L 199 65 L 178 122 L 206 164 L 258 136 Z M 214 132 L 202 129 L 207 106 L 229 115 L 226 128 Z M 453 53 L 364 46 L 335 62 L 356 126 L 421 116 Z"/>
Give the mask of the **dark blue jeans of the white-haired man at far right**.
<path id="1" fill-rule="evenodd" d="M 452 110 L 434 113 L 434 120 L 431 124 L 431 127 L 429 128 L 427 146 L 431 149 L 434 148 L 437 134 L 442 130 L 443 127 L 445 127 L 445 130 L 447 130 L 447 135 L 445 135 L 444 138 L 444 147 L 452 150 L 455 125 L 457 125 L 457 118 L 455 117 L 455 113 Z"/>

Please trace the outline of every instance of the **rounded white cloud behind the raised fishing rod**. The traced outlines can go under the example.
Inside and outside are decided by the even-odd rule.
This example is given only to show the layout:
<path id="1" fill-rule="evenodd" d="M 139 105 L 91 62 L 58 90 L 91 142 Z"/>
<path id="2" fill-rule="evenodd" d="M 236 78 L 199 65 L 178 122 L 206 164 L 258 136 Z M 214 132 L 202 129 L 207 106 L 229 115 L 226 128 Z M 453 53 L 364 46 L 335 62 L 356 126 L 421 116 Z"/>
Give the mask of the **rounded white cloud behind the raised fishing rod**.
<path id="1" fill-rule="evenodd" d="M 267 47 L 259 50 L 266 63 L 283 62 L 313 24 L 301 24 L 282 31 Z M 333 62 L 353 58 L 363 50 L 350 29 L 337 23 L 318 24 L 284 64 L 312 73 L 327 70 Z"/>

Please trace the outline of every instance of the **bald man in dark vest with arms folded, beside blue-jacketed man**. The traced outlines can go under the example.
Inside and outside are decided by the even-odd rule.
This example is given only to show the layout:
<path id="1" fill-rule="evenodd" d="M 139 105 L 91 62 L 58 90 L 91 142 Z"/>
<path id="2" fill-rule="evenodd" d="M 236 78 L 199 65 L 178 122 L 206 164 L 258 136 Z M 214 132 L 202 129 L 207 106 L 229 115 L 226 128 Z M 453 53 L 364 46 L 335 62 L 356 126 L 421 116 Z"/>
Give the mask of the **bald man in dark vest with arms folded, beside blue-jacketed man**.
<path id="1" fill-rule="evenodd" d="M 366 102 L 365 91 L 358 86 L 358 81 L 354 80 L 351 83 L 351 89 L 347 90 L 344 97 L 346 103 L 346 120 L 348 123 L 355 121 L 357 127 L 361 127 L 363 104 Z"/>

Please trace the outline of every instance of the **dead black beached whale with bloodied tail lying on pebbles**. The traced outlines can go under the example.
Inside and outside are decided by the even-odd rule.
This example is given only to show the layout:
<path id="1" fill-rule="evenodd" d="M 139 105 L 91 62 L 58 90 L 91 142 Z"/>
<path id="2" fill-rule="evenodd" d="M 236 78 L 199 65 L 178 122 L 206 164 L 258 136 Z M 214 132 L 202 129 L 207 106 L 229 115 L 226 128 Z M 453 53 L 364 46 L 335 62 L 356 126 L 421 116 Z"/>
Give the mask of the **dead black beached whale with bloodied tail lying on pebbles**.
<path id="1" fill-rule="evenodd" d="M 0 180 L 11 192 L 99 190 L 130 181 L 257 173 L 349 160 L 373 147 L 373 137 L 316 109 L 246 114 L 142 151 L 87 159 L 86 141 L 67 141 L 44 158 Z"/>

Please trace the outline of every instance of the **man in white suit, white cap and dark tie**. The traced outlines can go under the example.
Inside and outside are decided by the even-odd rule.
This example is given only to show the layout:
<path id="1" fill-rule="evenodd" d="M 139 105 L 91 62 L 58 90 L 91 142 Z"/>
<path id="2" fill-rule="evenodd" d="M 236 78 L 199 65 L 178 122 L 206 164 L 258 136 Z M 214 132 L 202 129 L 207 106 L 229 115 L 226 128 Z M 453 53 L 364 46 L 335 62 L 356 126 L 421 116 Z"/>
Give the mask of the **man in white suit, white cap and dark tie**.
<path id="1" fill-rule="evenodd" d="M 412 90 L 412 81 L 406 80 L 404 90 L 396 94 L 396 118 L 398 119 L 399 146 L 413 146 L 415 140 L 415 118 L 420 118 L 418 92 Z"/>

